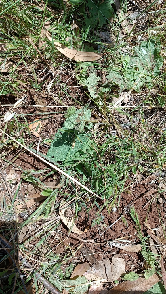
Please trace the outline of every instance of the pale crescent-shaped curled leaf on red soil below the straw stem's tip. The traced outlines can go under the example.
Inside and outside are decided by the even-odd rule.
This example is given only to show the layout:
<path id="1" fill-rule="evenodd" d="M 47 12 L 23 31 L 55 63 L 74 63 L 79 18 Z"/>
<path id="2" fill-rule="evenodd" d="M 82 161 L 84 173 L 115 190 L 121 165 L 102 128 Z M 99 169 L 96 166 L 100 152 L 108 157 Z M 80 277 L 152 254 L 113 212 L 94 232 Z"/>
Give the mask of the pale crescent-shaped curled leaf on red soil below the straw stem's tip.
<path id="1" fill-rule="evenodd" d="M 67 207 L 67 203 L 63 202 L 63 205 L 61 204 L 61 206 L 59 207 L 59 216 L 62 220 L 62 222 L 67 226 L 67 228 L 76 234 L 83 234 L 84 232 L 82 232 L 81 230 L 79 230 L 75 223 L 74 223 L 74 217 L 68 217 L 67 216 L 67 210 L 69 207 Z"/>

